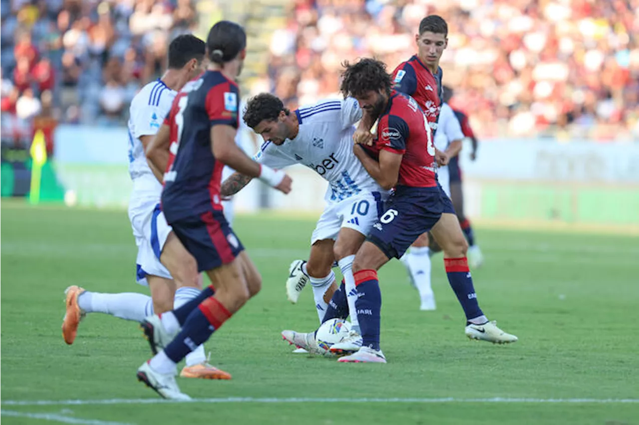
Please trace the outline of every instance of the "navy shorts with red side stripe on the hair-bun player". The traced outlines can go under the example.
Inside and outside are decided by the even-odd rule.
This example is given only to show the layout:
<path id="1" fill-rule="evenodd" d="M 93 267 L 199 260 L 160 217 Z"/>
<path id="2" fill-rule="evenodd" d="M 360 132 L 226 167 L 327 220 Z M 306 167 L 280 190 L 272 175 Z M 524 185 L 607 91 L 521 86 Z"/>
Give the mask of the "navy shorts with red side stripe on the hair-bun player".
<path id="1" fill-rule="evenodd" d="M 229 264 L 244 250 L 222 211 L 207 211 L 170 223 L 173 232 L 197 261 L 197 271 Z"/>

